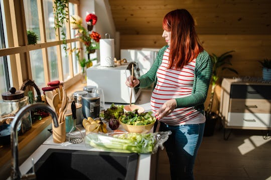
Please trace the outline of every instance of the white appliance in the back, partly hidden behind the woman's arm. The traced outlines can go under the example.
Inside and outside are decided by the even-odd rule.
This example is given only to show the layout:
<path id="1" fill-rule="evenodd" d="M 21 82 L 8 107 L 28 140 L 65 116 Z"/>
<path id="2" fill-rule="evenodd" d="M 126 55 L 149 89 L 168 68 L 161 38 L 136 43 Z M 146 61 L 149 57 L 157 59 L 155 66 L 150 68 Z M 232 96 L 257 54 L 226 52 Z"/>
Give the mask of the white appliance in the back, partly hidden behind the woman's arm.
<path id="1" fill-rule="evenodd" d="M 120 49 L 120 58 L 125 58 L 128 62 L 138 62 L 140 74 L 143 75 L 153 65 L 158 51 L 157 48 Z"/>

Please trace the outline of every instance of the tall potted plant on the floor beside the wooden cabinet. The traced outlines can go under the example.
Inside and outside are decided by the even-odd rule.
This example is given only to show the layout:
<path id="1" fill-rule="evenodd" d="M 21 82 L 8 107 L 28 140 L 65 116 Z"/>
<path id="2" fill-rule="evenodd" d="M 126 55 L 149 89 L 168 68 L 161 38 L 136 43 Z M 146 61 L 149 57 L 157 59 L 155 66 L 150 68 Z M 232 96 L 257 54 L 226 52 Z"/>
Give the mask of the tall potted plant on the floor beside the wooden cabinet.
<path id="1" fill-rule="evenodd" d="M 213 106 L 215 87 L 217 85 L 220 72 L 222 70 L 228 69 L 238 74 L 236 70 L 234 70 L 231 67 L 226 66 L 226 65 L 232 65 L 230 62 L 230 59 L 232 58 L 232 54 L 230 54 L 231 52 L 234 52 L 234 50 L 227 51 L 219 56 L 217 56 L 214 53 L 210 55 L 212 63 L 213 63 L 213 72 L 212 72 L 212 77 L 211 77 L 211 97 L 210 97 L 210 101 L 208 103 L 208 107 L 205 113 L 206 123 L 205 123 L 205 129 L 204 129 L 204 136 L 213 135 L 215 124 L 219 117 L 216 112 L 212 111 L 212 106 Z"/>

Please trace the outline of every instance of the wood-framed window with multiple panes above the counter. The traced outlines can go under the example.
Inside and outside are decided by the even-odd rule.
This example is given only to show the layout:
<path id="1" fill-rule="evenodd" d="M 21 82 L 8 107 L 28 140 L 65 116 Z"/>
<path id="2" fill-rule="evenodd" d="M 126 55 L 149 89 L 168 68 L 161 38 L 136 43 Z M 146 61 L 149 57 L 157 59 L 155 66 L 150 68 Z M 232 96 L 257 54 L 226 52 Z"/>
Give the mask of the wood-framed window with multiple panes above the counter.
<path id="1" fill-rule="evenodd" d="M 80 66 L 75 55 L 66 52 L 62 39 L 57 38 L 60 34 L 54 29 L 53 5 L 54 0 L 23 0 L 23 4 L 20 0 L 1 0 L 1 93 L 7 91 L 10 86 L 19 89 L 27 79 L 34 80 L 40 88 L 52 80 L 74 82 L 80 79 Z M 71 0 L 68 7 L 70 15 L 77 14 L 79 0 Z M 81 46 L 75 38 L 75 30 L 67 30 L 66 27 L 69 26 L 64 27 L 67 46 Z M 27 30 L 37 34 L 37 44 L 27 44 Z"/>

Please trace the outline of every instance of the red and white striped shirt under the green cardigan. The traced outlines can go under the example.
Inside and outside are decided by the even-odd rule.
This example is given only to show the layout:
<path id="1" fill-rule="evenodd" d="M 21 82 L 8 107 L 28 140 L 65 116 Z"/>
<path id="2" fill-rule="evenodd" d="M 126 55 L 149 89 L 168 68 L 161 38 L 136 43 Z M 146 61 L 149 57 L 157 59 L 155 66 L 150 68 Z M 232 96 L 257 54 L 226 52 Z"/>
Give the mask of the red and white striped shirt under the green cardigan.
<path id="1" fill-rule="evenodd" d="M 166 49 L 162 63 L 157 70 L 157 84 L 151 97 L 153 112 L 158 110 L 167 100 L 181 98 L 192 93 L 196 59 L 182 69 L 167 69 L 169 65 L 169 48 Z M 176 108 L 166 117 L 160 119 L 169 125 L 195 124 L 205 121 L 200 111 L 192 107 Z"/>

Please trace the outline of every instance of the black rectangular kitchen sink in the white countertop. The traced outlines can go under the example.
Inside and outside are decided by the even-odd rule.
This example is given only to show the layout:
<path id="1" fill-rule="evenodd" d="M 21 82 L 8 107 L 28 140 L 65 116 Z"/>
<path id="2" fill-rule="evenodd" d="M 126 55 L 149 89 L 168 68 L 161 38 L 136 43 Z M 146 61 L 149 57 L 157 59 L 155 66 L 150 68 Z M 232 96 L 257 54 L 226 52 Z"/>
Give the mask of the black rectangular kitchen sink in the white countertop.
<path id="1" fill-rule="evenodd" d="M 138 153 L 49 148 L 34 167 L 36 179 L 136 179 L 138 159 Z"/>

